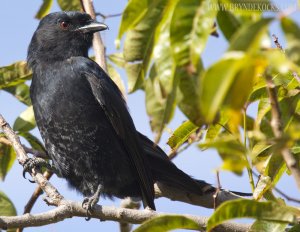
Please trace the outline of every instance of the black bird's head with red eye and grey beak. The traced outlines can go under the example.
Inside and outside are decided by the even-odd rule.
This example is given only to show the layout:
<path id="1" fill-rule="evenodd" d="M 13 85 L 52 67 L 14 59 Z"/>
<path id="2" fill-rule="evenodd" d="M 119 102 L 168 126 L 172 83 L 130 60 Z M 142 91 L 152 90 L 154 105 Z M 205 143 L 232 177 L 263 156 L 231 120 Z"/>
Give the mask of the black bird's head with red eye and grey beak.
<path id="1" fill-rule="evenodd" d="M 29 48 L 28 64 L 55 62 L 72 56 L 87 56 L 93 33 L 108 27 L 81 12 L 56 12 L 45 16 L 36 29 Z"/>

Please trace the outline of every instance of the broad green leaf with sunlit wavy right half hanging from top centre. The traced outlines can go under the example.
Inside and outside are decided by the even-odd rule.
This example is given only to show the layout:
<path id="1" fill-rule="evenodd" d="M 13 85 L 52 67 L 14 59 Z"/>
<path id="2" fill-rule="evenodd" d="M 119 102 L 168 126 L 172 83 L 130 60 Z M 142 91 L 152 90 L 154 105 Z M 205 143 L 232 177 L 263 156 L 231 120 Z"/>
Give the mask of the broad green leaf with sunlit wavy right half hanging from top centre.
<path id="1" fill-rule="evenodd" d="M 212 32 L 217 1 L 181 0 L 176 5 L 170 27 L 171 48 L 176 64 L 198 65 Z"/>

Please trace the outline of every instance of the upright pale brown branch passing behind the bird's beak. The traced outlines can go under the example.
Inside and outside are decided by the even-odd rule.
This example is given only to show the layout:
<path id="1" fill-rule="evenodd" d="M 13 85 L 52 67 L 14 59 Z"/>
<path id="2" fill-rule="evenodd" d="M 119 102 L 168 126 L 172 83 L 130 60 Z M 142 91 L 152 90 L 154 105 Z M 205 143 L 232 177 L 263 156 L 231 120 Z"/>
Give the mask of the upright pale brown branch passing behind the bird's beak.
<path id="1" fill-rule="evenodd" d="M 96 18 L 95 9 L 93 6 L 92 0 L 81 0 L 81 5 L 84 8 L 84 11 L 91 15 L 93 19 Z M 100 67 L 107 72 L 107 66 L 106 66 L 106 59 L 105 59 L 105 47 L 102 42 L 100 33 L 94 33 L 94 39 L 93 39 L 93 48 L 95 52 L 95 60 L 100 65 Z"/>

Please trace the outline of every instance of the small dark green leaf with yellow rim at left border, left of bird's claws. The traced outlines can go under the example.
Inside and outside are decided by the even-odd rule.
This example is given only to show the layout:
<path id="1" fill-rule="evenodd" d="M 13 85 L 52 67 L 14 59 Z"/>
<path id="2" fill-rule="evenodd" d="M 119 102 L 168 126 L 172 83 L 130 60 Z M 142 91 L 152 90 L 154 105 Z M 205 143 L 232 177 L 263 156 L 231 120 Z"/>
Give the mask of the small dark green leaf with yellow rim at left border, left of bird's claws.
<path id="1" fill-rule="evenodd" d="M 16 153 L 14 149 L 9 145 L 0 143 L 0 180 L 4 181 L 6 174 L 15 162 L 15 159 Z"/>

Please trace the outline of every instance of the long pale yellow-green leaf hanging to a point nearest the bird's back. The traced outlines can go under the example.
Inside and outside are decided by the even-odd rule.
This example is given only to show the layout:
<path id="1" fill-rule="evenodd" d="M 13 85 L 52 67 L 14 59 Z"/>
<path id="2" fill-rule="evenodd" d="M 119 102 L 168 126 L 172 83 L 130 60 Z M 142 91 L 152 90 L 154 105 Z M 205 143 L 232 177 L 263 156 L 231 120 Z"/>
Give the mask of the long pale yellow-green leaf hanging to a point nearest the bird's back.
<path id="1" fill-rule="evenodd" d="M 156 133 L 158 142 L 163 129 L 175 111 L 176 86 L 175 64 L 171 57 L 169 23 L 160 28 L 160 35 L 154 48 L 155 62 L 150 77 L 145 80 L 146 109 L 151 119 L 151 129 Z"/>

